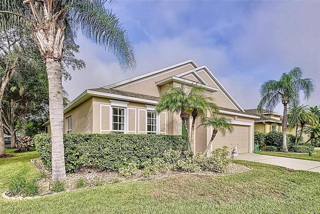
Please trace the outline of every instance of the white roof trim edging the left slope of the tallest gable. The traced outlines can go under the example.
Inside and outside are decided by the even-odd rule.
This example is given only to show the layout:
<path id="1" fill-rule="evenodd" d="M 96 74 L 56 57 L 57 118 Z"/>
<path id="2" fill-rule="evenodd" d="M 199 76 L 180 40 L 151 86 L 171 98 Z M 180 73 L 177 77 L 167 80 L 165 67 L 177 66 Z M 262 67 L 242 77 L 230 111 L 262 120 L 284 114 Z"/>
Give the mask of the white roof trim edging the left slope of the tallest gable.
<path id="1" fill-rule="evenodd" d="M 182 66 L 182 65 L 184 65 L 184 66 Z M 182 67 L 186 67 L 188 65 L 191 65 L 193 68 L 198 67 L 198 65 L 193 61 L 193 59 L 189 59 L 189 60 L 177 63 L 177 64 L 173 64 L 173 65 L 161 68 L 161 69 L 157 69 L 157 70 L 154 70 L 154 71 L 139 75 L 139 76 L 135 76 L 135 77 L 132 77 L 132 78 L 129 78 L 129 79 L 125 79 L 123 81 L 119 81 L 119 82 L 116 82 L 116 83 L 113 83 L 113 84 L 109 84 L 109 85 L 103 86 L 103 88 L 118 89 L 118 88 L 121 88 L 121 87 L 124 87 L 124 86 L 128 86 L 128 85 L 131 85 L 131 84 L 134 84 L 134 83 L 138 83 L 138 82 L 143 81 L 143 80 L 147 80 L 149 78 L 153 78 L 153 77 L 156 77 L 156 76 L 171 72 L 171 71 L 176 70 L 176 69 L 180 69 Z M 172 68 L 175 68 L 175 67 L 177 67 L 177 68 L 176 69 L 172 69 Z M 165 70 L 168 70 L 168 71 L 163 72 Z M 157 74 L 157 73 L 159 73 L 159 74 L 158 75 L 154 75 L 154 74 Z M 151 75 L 154 75 L 154 76 L 146 78 L 146 77 L 151 76 Z M 141 79 L 141 80 L 137 81 L 139 79 Z M 130 83 L 130 84 L 128 84 L 128 83 Z"/>

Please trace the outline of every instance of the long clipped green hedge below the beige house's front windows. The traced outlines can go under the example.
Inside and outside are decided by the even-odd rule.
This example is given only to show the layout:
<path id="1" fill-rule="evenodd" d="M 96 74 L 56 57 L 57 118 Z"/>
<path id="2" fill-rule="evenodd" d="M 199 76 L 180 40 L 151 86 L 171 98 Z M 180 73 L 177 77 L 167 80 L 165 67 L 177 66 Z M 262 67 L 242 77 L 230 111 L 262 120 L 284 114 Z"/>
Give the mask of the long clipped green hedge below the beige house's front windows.
<path id="1" fill-rule="evenodd" d="M 46 168 L 51 169 L 51 135 L 37 134 L 33 138 Z M 73 172 L 80 166 L 118 170 L 129 162 L 138 167 L 165 150 L 186 150 L 186 137 L 160 134 L 63 134 L 65 170 Z"/>

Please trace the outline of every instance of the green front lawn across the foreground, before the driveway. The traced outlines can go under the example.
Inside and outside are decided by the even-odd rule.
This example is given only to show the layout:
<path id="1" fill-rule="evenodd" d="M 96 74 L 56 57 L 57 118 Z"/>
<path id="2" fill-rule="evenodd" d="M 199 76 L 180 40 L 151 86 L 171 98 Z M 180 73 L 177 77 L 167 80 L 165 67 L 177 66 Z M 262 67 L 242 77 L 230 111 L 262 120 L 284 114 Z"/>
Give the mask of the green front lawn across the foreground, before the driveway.
<path id="1" fill-rule="evenodd" d="M 0 159 L 0 191 L 10 176 L 38 176 L 35 151 Z M 239 163 L 244 163 L 238 161 Z M 61 192 L 29 200 L 0 198 L 1 213 L 318 213 L 320 173 L 248 162 L 229 175 L 184 174 Z"/>

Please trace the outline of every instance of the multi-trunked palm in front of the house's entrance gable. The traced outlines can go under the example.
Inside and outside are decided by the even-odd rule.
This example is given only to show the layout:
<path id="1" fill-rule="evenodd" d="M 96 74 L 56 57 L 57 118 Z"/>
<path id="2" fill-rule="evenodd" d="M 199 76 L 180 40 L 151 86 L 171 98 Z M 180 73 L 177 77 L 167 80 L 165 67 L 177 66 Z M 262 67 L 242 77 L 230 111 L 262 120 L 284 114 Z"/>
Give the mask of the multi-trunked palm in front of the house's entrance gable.
<path id="1" fill-rule="evenodd" d="M 216 112 L 217 107 L 211 102 L 210 97 L 206 97 L 202 94 L 204 89 L 201 86 L 192 87 L 188 92 L 185 90 L 183 82 L 179 87 L 175 87 L 173 84 L 167 84 L 167 88 L 168 91 L 161 94 L 155 107 L 155 111 L 158 114 L 163 110 L 180 114 L 183 127 L 186 131 L 188 149 L 193 152 L 195 117 L 198 114 L 206 114 L 207 111 Z M 191 133 L 189 133 L 186 124 L 188 113 L 192 113 Z"/>

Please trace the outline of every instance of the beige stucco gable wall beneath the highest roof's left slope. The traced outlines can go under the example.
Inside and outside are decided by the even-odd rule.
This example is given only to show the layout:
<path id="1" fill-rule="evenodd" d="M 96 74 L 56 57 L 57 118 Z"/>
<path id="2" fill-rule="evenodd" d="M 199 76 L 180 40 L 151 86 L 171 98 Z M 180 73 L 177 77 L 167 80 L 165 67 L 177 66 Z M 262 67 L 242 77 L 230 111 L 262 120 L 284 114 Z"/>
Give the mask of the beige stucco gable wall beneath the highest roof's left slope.
<path id="1" fill-rule="evenodd" d="M 186 65 L 186 66 L 180 67 L 178 69 L 171 69 L 171 70 L 169 70 L 169 72 L 164 72 L 162 74 L 154 74 L 152 76 L 149 76 L 147 79 L 145 79 L 143 81 L 134 82 L 134 83 L 132 83 L 130 85 L 126 85 L 126 86 L 115 87 L 114 89 L 119 89 L 119 90 L 124 90 L 124 91 L 129 91 L 129 92 L 134 92 L 134 93 L 141 93 L 141 94 L 145 94 L 145 95 L 158 97 L 160 91 L 159 91 L 158 86 L 155 84 L 155 82 L 163 80 L 167 77 L 188 71 L 190 69 L 193 69 L 193 67 L 191 65 Z"/>

